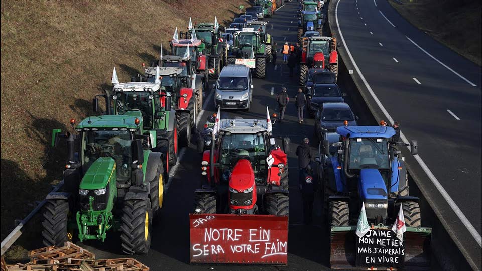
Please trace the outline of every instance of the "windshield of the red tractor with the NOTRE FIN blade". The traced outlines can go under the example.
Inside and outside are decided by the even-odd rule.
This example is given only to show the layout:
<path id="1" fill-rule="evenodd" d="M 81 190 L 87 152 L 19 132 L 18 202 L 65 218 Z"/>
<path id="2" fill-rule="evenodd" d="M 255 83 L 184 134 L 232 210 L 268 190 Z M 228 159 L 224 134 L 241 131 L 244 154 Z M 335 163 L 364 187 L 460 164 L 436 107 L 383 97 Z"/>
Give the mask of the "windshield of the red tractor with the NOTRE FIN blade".
<path id="1" fill-rule="evenodd" d="M 225 171 L 230 172 L 239 159 L 248 159 L 255 179 L 262 182 L 266 175 L 266 154 L 265 138 L 261 134 L 224 135 L 221 142 L 221 170 L 223 174 Z"/>

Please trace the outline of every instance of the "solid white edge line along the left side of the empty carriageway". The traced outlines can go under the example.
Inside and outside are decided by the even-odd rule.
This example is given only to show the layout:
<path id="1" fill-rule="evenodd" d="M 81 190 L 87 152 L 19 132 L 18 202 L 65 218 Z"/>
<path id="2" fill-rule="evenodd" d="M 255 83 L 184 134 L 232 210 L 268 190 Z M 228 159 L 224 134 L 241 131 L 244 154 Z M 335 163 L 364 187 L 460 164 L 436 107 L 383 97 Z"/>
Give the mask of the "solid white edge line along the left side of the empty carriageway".
<path id="1" fill-rule="evenodd" d="M 340 35 L 340 38 L 341 38 L 341 41 L 343 42 L 343 44 L 345 45 L 345 48 L 346 48 L 346 53 L 348 54 L 350 60 L 351 60 L 351 63 L 353 63 L 353 66 L 356 70 L 356 72 L 358 72 L 358 75 L 360 76 L 360 79 L 362 79 L 363 83 L 365 84 L 365 87 L 368 89 L 368 91 L 370 92 L 370 95 L 372 96 L 372 98 L 375 100 L 375 102 L 377 103 L 378 107 L 380 107 L 380 110 L 382 110 L 383 114 L 385 115 L 385 117 L 388 119 L 388 121 L 390 121 L 391 123 L 393 123 L 393 118 L 390 116 L 390 114 L 387 112 L 387 110 L 385 109 L 385 107 L 383 106 L 382 102 L 380 102 L 380 100 L 378 99 L 377 95 L 375 95 L 375 92 L 373 92 L 373 89 L 372 87 L 370 87 L 370 85 L 368 84 L 367 82 L 367 79 L 365 79 L 365 76 L 363 76 L 362 74 L 362 71 L 360 71 L 360 69 L 358 68 L 358 65 L 356 65 L 356 62 L 355 60 L 353 59 L 353 56 L 351 55 L 351 52 L 350 52 L 350 49 L 348 49 L 348 46 L 346 45 L 346 41 L 343 37 L 343 33 L 341 32 L 341 29 L 340 29 L 340 24 L 339 24 L 339 21 L 338 21 L 338 5 L 340 4 L 341 0 L 338 1 L 338 3 L 336 3 L 336 8 L 335 8 L 335 19 L 336 19 L 336 25 L 338 27 L 338 33 Z M 383 14 L 382 14 L 383 15 Z M 394 26 L 395 27 L 395 26 Z M 407 37 L 408 38 L 408 37 Z M 420 48 L 421 49 L 421 48 Z M 448 67 L 447 67 L 448 68 Z M 407 138 L 405 137 L 405 135 L 403 134 L 403 132 L 400 132 L 400 139 L 402 139 L 402 141 L 406 144 L 409 143 L 409 141 L 407 140 Z M 410 149 L 410 146 L 407 146 L 408 149 Z M 425 173 L 428 175 L 428 177 L 430 178 L 430 180 L 432 181 L 432 183 L 435 185 L 435 187 L 437 188 L 438 192 L 440 192 L 440 194 L 442 195 L 442 197 L 445 199 L 445 201 L 447 201 L 447 203 L 450 205 L 450 208 L 452 208 L 452 210 L 454 211 L 454 213 L 457 215 L 457 217 L 460 219 L 460 221 L 462 221 L 462 223 L 464 224 L 465 228 L 467 228 L 467 230 L 470 232 L 470 234 L 472 235 L 472 237 L 475 239 L 475 241 L 478 243 L 478 245 L 480 247 L 482 247 L 482 236 L 480 236 L 480 234 L 477 232 L 477 230 L 473 227 L 472 223 L 470 223 L 470 221 L 468 221 L 467 217 L 462 213 L 462 210 L 460 210 L 460 208 L 457 206 L 457 204 L 453 201 L 453 199 L 450 197 L 450 195 L 447 193 L 447 191 L 443 188 L 443 186 L 440 184 L 440 182 L 437 180 L 437 178 L 435 177 L 435 175 L 433 175 L 432 171 L 428 168 L 427 164 L 425 164 L 425 162 L 422 160 L 422 158 L 419 156 L 419 155 L 414 155 L 413 156 L 415 158 L 415 160 L 417 160 L 417 162 L 420 164 L 420 166 L 422 167 L 422 169 L 425 171 Z"/>

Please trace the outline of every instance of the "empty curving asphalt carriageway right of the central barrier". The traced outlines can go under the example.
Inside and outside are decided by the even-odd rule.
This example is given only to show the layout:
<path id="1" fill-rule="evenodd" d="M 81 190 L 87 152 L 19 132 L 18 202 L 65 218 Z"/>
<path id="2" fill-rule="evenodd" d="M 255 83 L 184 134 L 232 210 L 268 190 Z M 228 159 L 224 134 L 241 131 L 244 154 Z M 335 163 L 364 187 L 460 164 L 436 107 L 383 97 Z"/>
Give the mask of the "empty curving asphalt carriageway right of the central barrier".
<path id="1" fill-rule="evenodd" d="M 350 62 L 347 66 L 354 70 L 355 80 L 365 86 L 361 90 L 369 97 L 369 106 L 377 107 L 371 88 L 390 116 L 401 121 L 405 136 L 418 140 L 419 158 L 454 204 L 447 203 L 426 170 L 413 167 L 412 175 L 423 180 L 419 186 L 432 207 L 480 263 L 481 67 L 413 27 L 387 1 L 335 3 L 330 20 L 337 17 L 339 28 L 333 30 L 341 30 L 341 50 L 345 54 L 349 50 L 359 72 L 348 57 L 345 63 Z"/>

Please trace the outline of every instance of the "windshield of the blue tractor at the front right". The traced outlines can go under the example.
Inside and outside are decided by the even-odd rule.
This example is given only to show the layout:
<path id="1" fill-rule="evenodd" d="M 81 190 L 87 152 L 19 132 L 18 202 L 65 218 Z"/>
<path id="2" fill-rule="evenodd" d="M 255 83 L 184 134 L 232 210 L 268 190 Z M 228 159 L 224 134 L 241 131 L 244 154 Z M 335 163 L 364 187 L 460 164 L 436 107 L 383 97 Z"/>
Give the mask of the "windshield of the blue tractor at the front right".
<path id="1" fill-rule="evenodd" d="M 353 138 L 350 139 L 349 168 L 390 168 L 387 139 Z"/>

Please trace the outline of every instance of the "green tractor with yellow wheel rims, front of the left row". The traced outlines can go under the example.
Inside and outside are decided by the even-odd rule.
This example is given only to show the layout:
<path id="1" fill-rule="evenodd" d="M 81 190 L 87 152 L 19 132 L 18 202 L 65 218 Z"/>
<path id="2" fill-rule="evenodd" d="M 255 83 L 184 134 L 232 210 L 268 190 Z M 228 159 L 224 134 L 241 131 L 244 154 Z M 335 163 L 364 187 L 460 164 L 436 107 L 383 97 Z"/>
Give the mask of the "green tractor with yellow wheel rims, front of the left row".
<path id="1" fill-rule="evenodd" d="M 120 231 L 124 253 L 149 251 L 167 173 L 164 154 L 152 151 L 156 130 L 146 131 L 143 119 L 139 110 L 131 110 L 88 117 L 75 126 L 75 134 L 53 130 L 52 147 L 65 138 L 68 157 L 63 192 L 50 193 L 43 208 L 44 245 L 72 238 L 103 242 L 108 231 Z"/>

